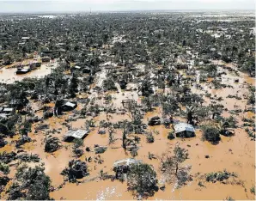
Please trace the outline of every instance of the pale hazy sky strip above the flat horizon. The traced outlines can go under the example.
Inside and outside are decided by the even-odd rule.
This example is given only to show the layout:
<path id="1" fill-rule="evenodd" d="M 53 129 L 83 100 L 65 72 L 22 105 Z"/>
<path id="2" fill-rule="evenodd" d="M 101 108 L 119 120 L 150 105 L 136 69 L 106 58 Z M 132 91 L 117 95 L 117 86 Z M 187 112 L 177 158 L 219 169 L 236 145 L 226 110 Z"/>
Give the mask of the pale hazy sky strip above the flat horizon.
<path id="1" fill-rule="evenodd" d="M 254 0 L 0 0 L 0 12 L 250 9 Z"/>

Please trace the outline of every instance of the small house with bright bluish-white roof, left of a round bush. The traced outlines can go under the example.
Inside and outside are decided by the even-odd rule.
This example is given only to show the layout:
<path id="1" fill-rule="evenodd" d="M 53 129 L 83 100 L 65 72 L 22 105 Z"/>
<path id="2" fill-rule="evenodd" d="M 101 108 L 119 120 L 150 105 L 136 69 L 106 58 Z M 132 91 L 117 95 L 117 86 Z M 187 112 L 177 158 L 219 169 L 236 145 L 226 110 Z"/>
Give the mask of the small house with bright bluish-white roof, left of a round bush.
<path id="1" fill-rule="evenodd" d="M 195 137 L 195 129 L 192 125 L 179 123 L 174 125 L 176 137 Z"/>

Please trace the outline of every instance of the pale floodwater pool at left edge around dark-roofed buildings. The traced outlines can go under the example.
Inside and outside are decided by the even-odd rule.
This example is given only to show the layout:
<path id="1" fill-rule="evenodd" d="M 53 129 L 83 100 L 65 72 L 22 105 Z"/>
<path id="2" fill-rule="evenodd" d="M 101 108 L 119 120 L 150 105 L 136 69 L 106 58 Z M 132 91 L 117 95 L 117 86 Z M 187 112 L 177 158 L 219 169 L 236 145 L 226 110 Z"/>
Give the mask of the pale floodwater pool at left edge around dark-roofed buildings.
<path id="1" fill-rule="evenodd" d="M 57 67 L 58 63 L 52 63 L 52 66 L 50 64 L 42 64 L 41 67 L 37 68 L 36 70 L 32 70 L 28 72 L 27 74 L 23 75 L 16 75 L 16 68 L 5 68 L 3 67 L 0 69 L 0 82 L 4 83 L 13 83 L 15 81 L 21 81 L 24 78 L 31 77 L 31 78 L 41 78 L 44 77 L 52 72 L 52 69 L 55 69 Z"/>

